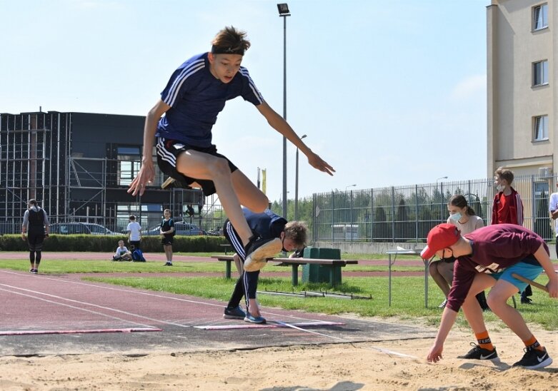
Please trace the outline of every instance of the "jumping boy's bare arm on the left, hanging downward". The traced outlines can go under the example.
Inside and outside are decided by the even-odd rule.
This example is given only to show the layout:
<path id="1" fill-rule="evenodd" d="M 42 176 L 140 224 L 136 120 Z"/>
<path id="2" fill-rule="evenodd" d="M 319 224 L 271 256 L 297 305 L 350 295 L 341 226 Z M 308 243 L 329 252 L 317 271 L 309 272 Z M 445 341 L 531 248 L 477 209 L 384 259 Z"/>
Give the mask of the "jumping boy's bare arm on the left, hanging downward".
<path id="1" fill-rule="evenodd" d="M 128 193 L 131 193 L 131 195 L 137 195 L 138 193 L 139 195 L 143 195 L 146 184 L 150 183 L 155 178 L 155 168 L 153 166 L 151 153 L 153 153 L 157 123 L 169 108 L 171 108 L 171 106 L 159 99 L 145 117 L 143 158 L 141 159 L 141 168 L 139 168 L 138 175 L 134 178 L 134 181 L 131 181 L 128 189 Z"/>

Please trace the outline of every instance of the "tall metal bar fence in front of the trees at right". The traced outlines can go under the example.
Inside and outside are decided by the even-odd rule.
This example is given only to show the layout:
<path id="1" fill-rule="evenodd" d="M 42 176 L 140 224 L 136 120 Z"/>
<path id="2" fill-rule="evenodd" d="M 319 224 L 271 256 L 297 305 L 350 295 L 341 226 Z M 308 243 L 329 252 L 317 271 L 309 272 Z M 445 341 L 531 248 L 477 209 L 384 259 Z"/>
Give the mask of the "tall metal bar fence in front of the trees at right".
<path id="1" fill-rule="evenodd" d="M 554 240 L 548 205 L 555 183 L 556 177 L 540 176 L 512 183 L 523 200 L 524 227 L 547 241 Z M 312 235 L 315 242 L 424 243 L 430 229 L 447 221 L 452 195 L 464 195 L 489 225 L 496 193 L 492 178 L 316 193 Z"/>

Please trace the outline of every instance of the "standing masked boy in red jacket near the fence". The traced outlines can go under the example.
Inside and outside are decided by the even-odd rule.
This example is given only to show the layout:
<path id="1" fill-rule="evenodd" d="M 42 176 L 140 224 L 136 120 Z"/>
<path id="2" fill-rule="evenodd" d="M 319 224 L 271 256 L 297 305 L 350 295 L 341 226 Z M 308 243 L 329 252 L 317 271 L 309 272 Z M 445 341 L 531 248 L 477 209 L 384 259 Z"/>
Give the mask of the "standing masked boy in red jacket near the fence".
<path id="1" fill-rule="evenodd" d="M 492 202 L 492 224 L 523 225 L 523 201 L 519 193 L 512 188 L 514 172 L 503 167 L 494 171 L 494 186 L 498 191 Z M 533 300 L 531 285 L 521 293 L 521 303 L 531 304 Z"/>

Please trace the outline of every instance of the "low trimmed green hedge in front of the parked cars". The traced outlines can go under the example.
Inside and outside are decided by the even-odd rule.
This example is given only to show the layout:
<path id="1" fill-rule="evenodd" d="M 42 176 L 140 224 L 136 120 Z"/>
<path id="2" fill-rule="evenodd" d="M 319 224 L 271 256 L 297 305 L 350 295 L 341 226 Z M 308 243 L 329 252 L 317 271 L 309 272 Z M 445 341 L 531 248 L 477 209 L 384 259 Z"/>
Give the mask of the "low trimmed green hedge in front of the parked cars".
<path id="1" fill-rule="evenodd" d="M 117 235 L 49 235 L 44 240 L 45 251 L 84 251 L 95 253 L 114 253 L 118 241 L 124 240 L 128 246 L 126 236 Z M 224 236 L 180 236 L 174 237 L 172 250 L 175 253 L 221 253 L 219 246 L 225 244 Z M 27 251 L 29 247 L 21 235 L 0 235 L 1 251 Z M 162 253 L 160 236 L 144 236 L 141 238 L 141 250 L 144 253 Z"/>

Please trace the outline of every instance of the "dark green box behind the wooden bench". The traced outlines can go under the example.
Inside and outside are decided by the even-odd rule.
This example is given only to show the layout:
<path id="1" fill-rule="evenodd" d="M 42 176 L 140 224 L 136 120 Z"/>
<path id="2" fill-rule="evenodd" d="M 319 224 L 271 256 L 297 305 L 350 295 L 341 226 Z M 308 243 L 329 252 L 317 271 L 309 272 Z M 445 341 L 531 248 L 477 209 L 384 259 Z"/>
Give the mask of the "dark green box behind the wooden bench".
<path id="1" fill-rule="evenodd" d="M 339 248 L 304 248 L 304 258 L 312 259 L 341 259 Z M 302 265 L 303 283 L 341 283 L 341 268 L 330 265 Z"/>

